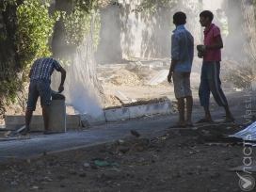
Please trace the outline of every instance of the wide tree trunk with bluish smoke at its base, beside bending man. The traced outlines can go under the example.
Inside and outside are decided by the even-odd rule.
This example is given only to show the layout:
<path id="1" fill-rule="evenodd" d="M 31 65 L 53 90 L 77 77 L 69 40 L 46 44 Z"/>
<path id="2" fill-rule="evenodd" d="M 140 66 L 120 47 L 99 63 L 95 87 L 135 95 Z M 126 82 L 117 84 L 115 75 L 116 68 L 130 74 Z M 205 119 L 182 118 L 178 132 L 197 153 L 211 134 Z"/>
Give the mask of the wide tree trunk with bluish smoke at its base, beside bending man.
<path id="1" fill-rule="evenodd" d="M 61 8 L 57 4 L 63 4 L 64 2 L 65 1 L 62 0 L 56 1 L 56 8 Z M 53 48 L 56 47 L 53 49 L 54 56 L 67 55 L 71 59 L 71 65 L 64 67 L 67 71 L 67 78 L 63 93 L 66 96 L 68 104 L 71 104 L 80 114 L 89 113 L 92 116 L 100 114 L 102 111 L 100 105 L 102 105 L 104 101 L 104 91 L 97 78 L 96 61 L 93 51 L 95 17 L 96 12 L 92 13 L 88 37 L 85 38 L 81 46 L 72 49 L 74 51 L 72 51 L 70 47 L 63 46 L 65 32 L 63 31 L 63 27 L 61 27 L 61 31 L 58 28 L 58 26 L 63 26 L 63 24 L 56 24 L 53 40 Z M 60 23 L 63 22 L 60 21 Z M 56 33 L 60 41 L 55 39 Z M 63 37 L 59 38 L 60 35 Z M 67 56 L 65 57 L 67 58 Z M 60 83 L 60 75 L 58 73 L 56 77 L 53 82 L 54 89 L 58 88 Z"/>

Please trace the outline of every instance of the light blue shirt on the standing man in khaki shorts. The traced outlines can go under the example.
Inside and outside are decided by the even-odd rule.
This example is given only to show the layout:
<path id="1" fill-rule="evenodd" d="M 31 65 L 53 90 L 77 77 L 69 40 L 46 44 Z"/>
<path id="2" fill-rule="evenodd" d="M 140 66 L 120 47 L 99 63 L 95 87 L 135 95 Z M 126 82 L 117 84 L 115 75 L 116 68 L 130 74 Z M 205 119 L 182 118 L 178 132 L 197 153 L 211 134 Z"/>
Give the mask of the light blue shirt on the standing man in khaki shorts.
<path id="1" fill-rule="evenodd" d="M 177 60 L 174 72 L 191 72 L 194 57 L 194 38 L 184 28 L 184 24 L 178 25 L 172 31 L 171 58 Z"/>

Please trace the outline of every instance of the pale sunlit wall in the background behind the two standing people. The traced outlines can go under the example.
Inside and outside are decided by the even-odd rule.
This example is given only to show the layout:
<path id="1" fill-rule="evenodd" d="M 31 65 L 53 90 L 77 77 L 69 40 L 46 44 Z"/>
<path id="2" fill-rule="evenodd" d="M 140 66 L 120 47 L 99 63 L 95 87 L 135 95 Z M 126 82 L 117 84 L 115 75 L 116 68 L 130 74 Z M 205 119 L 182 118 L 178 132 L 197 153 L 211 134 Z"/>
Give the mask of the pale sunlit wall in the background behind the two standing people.
<path id="1" fill-rule="evenodd" d="M 200 11 L 209 9 L 216 14 L 217 8 L 225 10 L 225 0 L 186 0 L 177 1 L 177 8 L 160 8 L 153 16 L 136 14 L 135 9 L 141 0 L 122 0 L 121 7 L 110 4 L 101 10 L 101 43 L 95 54 L 100 64 L 119 61 L 123 58 L 170 56 L 170 37 L 175 26 L 172 15 L 176 11 L 187 14 L 185 27 L 195 39 L 195 45 L 202 43 L 203 28 L 200 26 Z"/>

